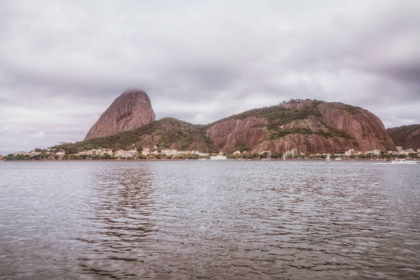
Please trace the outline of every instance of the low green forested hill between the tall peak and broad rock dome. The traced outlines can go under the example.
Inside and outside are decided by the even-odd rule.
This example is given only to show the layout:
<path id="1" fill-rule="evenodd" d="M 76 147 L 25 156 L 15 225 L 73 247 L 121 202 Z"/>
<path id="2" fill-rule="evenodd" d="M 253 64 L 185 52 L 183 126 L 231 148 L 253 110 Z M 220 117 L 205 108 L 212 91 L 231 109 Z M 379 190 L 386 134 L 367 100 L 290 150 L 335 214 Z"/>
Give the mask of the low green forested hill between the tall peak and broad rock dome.
<path id="1" fill-rule="evenodd" d="M 152 148 L 154 145 L 157 145 L 159 150 L 172 148 L 216 152 L 213 143 L 206 137 L 203 126 L 189 124 L 171 117 L 152 121 L 135 130 L 76 143 L 56 145 L 51 148 L 64 149 L 66 153 L 75 153 L 94 148 Z"/>

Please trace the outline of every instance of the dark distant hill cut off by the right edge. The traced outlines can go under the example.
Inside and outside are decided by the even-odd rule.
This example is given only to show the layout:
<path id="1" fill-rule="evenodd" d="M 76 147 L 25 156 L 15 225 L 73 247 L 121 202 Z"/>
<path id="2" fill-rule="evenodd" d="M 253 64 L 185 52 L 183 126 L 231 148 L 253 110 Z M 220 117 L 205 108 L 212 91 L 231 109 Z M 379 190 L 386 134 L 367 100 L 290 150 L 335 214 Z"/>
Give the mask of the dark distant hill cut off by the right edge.
<path id="1" fill-rule="evenodd" d="M 401 145 L 404 149 L 420 149 L 420 124 L 388 128 L 386 131 L 395 145 Z"/>

